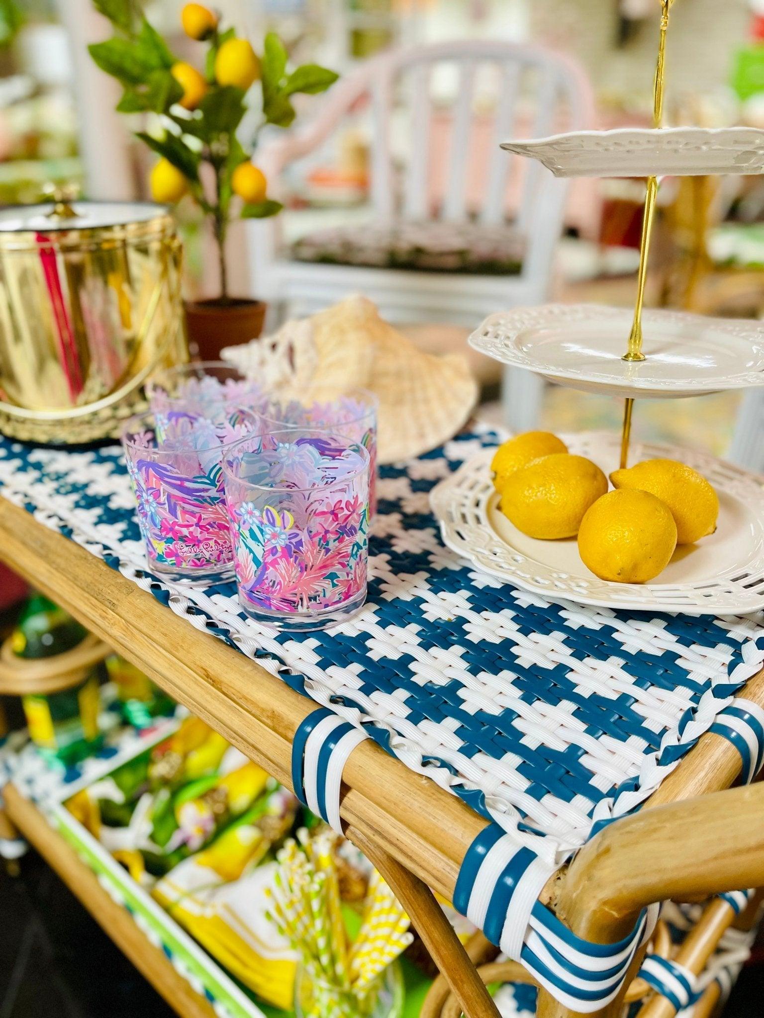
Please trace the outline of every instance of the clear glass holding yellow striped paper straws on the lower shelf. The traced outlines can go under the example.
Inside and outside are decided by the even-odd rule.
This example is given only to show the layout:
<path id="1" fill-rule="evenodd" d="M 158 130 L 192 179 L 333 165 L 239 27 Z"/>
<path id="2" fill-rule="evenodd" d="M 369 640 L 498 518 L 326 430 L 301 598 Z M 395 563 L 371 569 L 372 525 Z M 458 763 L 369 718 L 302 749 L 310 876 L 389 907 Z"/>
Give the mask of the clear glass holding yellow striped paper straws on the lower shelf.
<path id="1" fill-rule="evenodd" d="M 301 966 L 294 983 L 295 1018 L 400 1018 L 403 977 L 397 962 L 388 965 L 377 984 L 358 997 Z"/>

